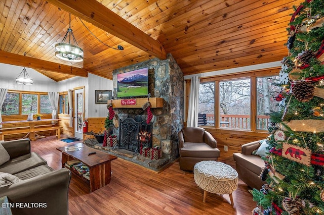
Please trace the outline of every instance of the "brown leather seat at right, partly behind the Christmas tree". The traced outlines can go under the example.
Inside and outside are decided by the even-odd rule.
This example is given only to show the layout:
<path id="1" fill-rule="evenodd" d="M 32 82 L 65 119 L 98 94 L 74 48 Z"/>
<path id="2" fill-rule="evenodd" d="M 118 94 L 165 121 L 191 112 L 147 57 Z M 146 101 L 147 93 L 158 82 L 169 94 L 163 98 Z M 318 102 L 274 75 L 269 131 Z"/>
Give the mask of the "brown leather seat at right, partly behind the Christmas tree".
<path id="1" fill-rule="evenodd" d="M 238 178 L 246 183 L 251 188 L 260 190 L 262 185 L 266 184 L 259 178 L 262 168 L 265 168 L 264 160 L 253 155 L 252 152 L 260 147 L 261 140 L 250 142 L 241 146 L 240 153 L 234 153 L 235 169 L 238 173 Z"/>

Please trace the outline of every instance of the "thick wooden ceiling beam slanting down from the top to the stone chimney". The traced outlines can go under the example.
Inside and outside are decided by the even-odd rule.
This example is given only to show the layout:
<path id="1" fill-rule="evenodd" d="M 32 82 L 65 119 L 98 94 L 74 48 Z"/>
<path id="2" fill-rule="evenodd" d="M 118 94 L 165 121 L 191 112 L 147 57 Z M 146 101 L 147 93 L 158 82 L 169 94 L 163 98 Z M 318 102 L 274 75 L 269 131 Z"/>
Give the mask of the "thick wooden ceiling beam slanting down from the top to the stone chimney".
<path id="1" fill-rule="evenodd" d="M 148 52 L 152 56 L 161 60 L 167 59 L 167 53 L 159 41 L 148 36 L 96 0 L 48 0 L 48 2 Z"/>

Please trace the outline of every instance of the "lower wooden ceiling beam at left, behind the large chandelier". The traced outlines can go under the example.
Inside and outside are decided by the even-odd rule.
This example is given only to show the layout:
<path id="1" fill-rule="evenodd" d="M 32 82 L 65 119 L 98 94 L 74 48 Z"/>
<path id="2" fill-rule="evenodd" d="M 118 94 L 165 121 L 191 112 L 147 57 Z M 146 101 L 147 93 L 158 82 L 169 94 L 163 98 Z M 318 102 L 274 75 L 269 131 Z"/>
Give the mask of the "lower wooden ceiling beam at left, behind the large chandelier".
<path id="1" fill-rule="evenodd" d="M 0 63 L 63 73 L 67 75 L 88 77 L 88 71 L 83 68 L 71 67 L 64 64 L 58 64 L 50 61 L 21 56 L 15 53 L 10 53 L 2 50 L 0 50 Z"/>

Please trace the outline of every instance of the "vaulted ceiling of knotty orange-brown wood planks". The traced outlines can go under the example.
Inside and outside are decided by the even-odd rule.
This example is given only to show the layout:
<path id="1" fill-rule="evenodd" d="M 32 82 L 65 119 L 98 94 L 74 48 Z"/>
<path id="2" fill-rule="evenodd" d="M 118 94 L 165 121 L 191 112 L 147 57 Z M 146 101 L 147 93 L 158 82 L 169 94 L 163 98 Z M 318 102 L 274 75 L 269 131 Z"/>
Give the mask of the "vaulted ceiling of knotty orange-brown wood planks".
<path id="1" fill-rule="evenodd" d="M 23 56 L 26 52 L 26 57 L 29 58 L 22 61 L 31 68 L 33 59 L 39 59 L 55 63 L 53 67 L 67 65 L 71 71 L 72 68 L 74 70 L 82 68 L 109 79 L 112 79 L 114 69 L 158 56 L 143 48 L 140 44 L 143 41 L 129 38 L 131 28 L 120 24 L 114 26 L 114 30 L 111 27 L 110 31 L 108 24 L 102 27 L 95 19 L 91 20 L 91 11 L 87 14 L 73 7 L 60 7 L 61 2 L 64 1 L 1 0 L 0 50 L 19 56 Z M 87 0 L 71 2 L 89 3 Z M 98 2 L 101 5 L 93 9 L 97 10 L 93 13 L 95 17 L 98 12 L 108 8 L 161 44 L 162 53 L 163 51 L 171 53 L 184 75 L 189 75 L 280 61 L 288 53 L 285 46 L 288 39 L 286 28 L 294 12 L 292 8 L 294 5 L 299 6 L 303 1 L 98 0 Z M 66 33 L 69 13 L 73 34 L 78 45 L 85 51 L 82 63 L 70 63 L 55 57 L 55 44 L 61 42 Z M 80 18 L 74 16 L 76 14 L 103 43 L 115 48 L 121 45 L 124 50 L 109 48 L 98 41 L 82 24 Z M 125 35 L 108 33 L 116 30 L 120 32 L 120 29 Z M 134 45 L 136 39 L 138 45 Z M 5 57 L 0 57 L 0 62 L 8 63 Z M 18 65 L 17 62 L 12 64 Z M 57 68 L 52 70 L 49 67 L 35 69 L 55 81 L 78 75 L 62 73 Z"/>

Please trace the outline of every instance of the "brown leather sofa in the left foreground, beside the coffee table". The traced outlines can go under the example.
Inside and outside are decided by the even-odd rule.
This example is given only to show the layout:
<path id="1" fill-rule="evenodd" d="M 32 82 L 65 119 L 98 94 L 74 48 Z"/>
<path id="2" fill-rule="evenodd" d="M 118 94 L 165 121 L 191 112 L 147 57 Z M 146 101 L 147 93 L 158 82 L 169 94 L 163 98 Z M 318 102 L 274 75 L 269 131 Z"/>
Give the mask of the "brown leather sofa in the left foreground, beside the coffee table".
<path id="1" fill-rule="evenodd" d="M 68 214 L 68 187 L 71 172 L 54 171 L 36 152 L 30 151 L 29 139 L 1 142 L 10 160 L 0 172 L 20 180 L 0 187 L 0 197 L 7 196 L 13 214 Z M 4 178 L 4 177 L 3 177 Z M 2 208 L 0 208 L 1 213 Z"/>

